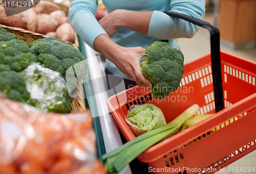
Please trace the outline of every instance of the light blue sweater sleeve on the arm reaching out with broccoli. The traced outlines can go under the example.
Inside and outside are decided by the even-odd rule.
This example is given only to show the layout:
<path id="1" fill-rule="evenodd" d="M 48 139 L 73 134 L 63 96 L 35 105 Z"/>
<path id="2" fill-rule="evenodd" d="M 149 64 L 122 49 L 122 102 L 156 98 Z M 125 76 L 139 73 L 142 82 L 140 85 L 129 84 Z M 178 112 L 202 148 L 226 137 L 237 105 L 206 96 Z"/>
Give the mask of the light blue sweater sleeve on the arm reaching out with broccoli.
<path id="1" fill-rule="evenodd" d="M 73 0 L 69 7 L 71 26 L 91 48 L 98 35 L 106 34 L 95 18 L 97 6 L 98 0 Z"/>

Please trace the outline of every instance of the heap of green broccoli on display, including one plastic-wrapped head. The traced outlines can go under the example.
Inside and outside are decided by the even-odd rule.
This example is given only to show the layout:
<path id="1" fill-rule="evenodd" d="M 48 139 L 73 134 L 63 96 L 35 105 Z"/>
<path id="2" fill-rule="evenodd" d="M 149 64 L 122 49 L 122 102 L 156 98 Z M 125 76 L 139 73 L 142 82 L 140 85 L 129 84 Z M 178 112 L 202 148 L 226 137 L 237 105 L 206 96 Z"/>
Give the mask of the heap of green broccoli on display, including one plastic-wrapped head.
<path id="1" fill-rule="evenodd" d="M 3 28 L 0 34 L 3 40 L 9 40 L 0 41 L 0 91 L 11 100 L 44 112 L 69 113 L 70 93 L 76 89 L 77 78 L 88 73 L 81 52 L 54 37 L 38 39 L 28 46 Z"/>

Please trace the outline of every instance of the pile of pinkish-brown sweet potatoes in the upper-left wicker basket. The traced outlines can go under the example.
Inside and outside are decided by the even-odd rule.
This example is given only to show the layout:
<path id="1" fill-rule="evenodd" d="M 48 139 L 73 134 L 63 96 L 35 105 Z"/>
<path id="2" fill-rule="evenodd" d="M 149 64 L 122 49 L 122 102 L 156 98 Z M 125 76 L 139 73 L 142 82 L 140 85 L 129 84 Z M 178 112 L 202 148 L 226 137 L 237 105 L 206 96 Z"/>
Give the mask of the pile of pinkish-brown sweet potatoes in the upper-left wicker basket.
<path id="1" fill-rule="evenodd" d="M 17 8 L 19 7 L 0 6 L 0 24 L 46 34 L 71 43 L 75 42 L 76 32 L 71 27 L 66 12 L 62 11 L 57 4 L 40 1 L 35 7 L 16 14 L 19 11 Z M 7 17 L 6 13 L 13 15 Z M 51 32 L 56 34 L 53 35 Z"/>

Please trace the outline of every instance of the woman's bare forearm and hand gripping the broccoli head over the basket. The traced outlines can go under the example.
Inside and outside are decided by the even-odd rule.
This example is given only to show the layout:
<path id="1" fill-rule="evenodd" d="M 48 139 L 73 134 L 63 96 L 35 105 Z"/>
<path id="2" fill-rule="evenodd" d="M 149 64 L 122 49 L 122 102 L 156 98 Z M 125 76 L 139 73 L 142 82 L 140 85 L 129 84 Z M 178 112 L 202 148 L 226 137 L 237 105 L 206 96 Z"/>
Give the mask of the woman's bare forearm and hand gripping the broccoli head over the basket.
<path id="1" fill-rule="evenodd" d="M 140 58 L 145 55 L 144 48 L 122 47 L 105 34 L 99 35 L 93 46 L 95 51 L 113 62 L 127 78 L 133 78 L 137 85 L 152 87 L 140 69 Z"/>

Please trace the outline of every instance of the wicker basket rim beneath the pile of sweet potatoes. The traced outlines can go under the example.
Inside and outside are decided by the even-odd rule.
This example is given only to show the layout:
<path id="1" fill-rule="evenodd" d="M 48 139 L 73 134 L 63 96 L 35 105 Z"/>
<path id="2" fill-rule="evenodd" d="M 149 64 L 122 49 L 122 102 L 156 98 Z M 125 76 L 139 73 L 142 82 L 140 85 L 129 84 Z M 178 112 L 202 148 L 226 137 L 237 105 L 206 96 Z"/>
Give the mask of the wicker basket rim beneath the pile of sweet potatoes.
<path id="1" fill-rule="evenodd" d="M 13 33 L 18 37 L 18 40 L 24 40 L 27 44 L 37 40 L 37 39 L 43 39 L 45 37 L 50 37 L 44 34 L 39 34 L 35 32 L 31 32 L 22 28 L 17 28 L 17 27 L 8 27 L 0 24 L 0 27 L 6 29 L 7 32 Z M 79 48 L 79 42 L 77 35 L 75 34 L 75 42 L 71 43 L 66 41 L 67 43 L 73 45 L 75 48 Z"/>

